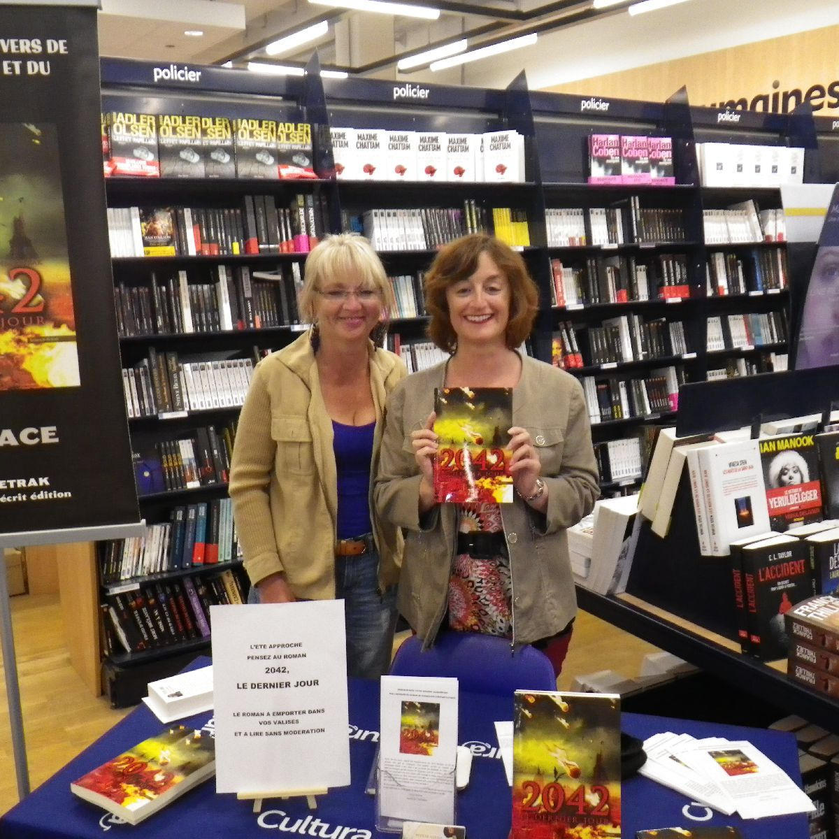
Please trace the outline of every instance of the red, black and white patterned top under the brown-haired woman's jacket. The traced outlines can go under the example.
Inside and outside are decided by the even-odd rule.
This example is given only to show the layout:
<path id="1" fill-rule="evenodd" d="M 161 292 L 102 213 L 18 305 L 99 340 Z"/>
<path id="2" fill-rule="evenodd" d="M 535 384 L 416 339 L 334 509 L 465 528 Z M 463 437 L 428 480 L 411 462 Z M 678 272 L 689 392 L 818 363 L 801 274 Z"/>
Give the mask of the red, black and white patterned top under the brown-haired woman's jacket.
<path id="1" fill-rule="evenodd" d="M 458 513 L 460 533 L 503 530 L 501 510 L 496 503 L 460 504 Z M 512 592 L 508 559 L 458 554 L 449 580 L 449 627 L 458 632 L 510 637 Z"/>

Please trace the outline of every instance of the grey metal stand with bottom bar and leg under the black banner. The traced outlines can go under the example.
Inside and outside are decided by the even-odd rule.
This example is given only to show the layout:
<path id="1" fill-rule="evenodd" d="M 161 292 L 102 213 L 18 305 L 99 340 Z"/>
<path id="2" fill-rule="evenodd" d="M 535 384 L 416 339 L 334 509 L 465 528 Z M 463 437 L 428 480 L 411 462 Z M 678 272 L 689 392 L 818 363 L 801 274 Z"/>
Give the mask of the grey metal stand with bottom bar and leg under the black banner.
<path id="1" fill-rule="evenodd" d="M 70 528 L 65 530 L 34 530 L 25 533 L 0 534 L 0 556 L 3 548 L 21 548 L 32 545 L 67 545 L 70 542 L 91 542 L 96 539 L 127 539 L 143 534 L 145 521 L 136 524 L 106 524 L 101 527 Z M 3 642 L 3 670 L 6 672 L 8 724 L 12 731 L 14 769 L 18 778 L 18 798 L 29 795 L 29 764 L 26 744 L 23 741 L 23 713 L 20 707 L 18 662 L 14 654 L 12 608 L 8 597 L 6 568 L 0 570 L 0 640 Z"/>

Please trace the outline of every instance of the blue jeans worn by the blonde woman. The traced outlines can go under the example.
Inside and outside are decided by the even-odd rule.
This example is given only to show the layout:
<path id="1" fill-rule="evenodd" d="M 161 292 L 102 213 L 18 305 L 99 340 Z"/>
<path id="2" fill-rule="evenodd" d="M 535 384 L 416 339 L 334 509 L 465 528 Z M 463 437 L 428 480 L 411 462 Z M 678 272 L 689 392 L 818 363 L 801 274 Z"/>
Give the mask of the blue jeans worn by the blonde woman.
<path id="1" fill-rule="evenodd" d="M 344 600 L 347 627 L 347 675 L 378 679 L 388 672 L 396 628 L 396 586 L 378 594 L 378 553 L 338 556 L 335 560 L 335 597 Z M 248 603 L 258 603 L 256 586 Z"/>

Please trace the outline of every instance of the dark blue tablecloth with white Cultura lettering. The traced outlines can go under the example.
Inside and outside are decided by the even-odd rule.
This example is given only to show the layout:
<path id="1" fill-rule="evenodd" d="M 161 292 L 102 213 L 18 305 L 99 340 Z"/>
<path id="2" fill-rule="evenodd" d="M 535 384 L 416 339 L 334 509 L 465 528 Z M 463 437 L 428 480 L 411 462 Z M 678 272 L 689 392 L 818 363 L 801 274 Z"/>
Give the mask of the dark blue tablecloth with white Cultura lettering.
<path id="1" fill-rule="evenodd" d="M 195 666 L 207 664 L 200 659 Z M 215 783 L 209 780 L 190 790 L 180 799 L 150 816 L 137 826 L 117 823 L 110 814 L 70 793 L 70 782 L 94 769 L 109 758 L 150 737 L 162 728 L 145 706 L 138 706 L 96 743 L 86 748 L 50 780 L 0 819 L 0 837 L 10 839 L 51 839 L 51 837 L 176 837 L 176 839 L 215 839 L 230 836 L 329 836 L 340 839 L 371 839 L 378 834 L 373 796 L 364 786 L 373 763 L 378 739 L 378 683 L 363 680 L 350 682 L 350 760 L 352 785 L 333 789 L 318 798 L 317 810 L 310 811 L 304 800 L 267 800 L 260 815 L 254 814 L 251 802 L 235 795 L 216 795 Z M 210 713 L 190 717 L 186 725 L 201 727 Z M 460 697 L 459 739 L 471 746 L 472 777 L 457 796 L 458 821 L 466 825 L 470 839 L 507 839 L 510 826 L 510 790 L 503 763 L 496 748 L 495 720 L 513 717 L 512 699 L 462 693 Z M 623 730 L 636 737 L 649 737 L 662 731 L 686 732 L 694 737 L 728 737 L 749 740 L 789 775 L 800 781 L 795 737 L 784 732 L 758 728 L 714 725 L 706 722 L 623 714 Z M 710 820 L 691 821 L 683 808 L 690 801 L 670 789 L 636 777 L 625 781 L 622 792 L 623 836 L 633 839 L 635 831 L 650 827 L 734 825 L 746 839 L 806 839 L 806 816 L 781 816 L 759 821 L 741 821 L 737 816 L 713 813 Z M 694 816 L 712 812 L 694 807 Z M 306 816 L 310 816 L 309 821 Z M 319 819 L 320 824 L 314 819 Z M 302 820 L 302 821 L 301 821 Z M 296 827 L 295 827 L 296 825 Z M 341 831 L 347 827 L 351 830 Z M 266 833 L 266 830 L 274 831 Z"/>

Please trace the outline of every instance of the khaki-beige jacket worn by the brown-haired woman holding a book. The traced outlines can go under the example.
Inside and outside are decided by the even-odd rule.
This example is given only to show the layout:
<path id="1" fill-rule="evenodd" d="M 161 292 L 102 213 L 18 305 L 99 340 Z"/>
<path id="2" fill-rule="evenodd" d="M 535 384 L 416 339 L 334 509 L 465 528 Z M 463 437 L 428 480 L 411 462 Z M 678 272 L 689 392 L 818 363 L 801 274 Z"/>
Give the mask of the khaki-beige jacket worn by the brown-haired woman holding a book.
<path id="1" fill-rule="evenodd" d="M 501 505 L 513 575 L 513 643 L 560 632 L 576 614 L 565 528 L 591 512 L 599 494 L 586 402 L 576 378 L 523 357 L 513 389 L 513 425 L 529 430 L 547 484 L 548 508 L 537 513 L 520 498 Z M 446 614 L 456 549 L 456 507 L 441 504 L 420 522 L 419 467 L 410 432 L 422 428 L 443 386 L 446 365 L 405 379 L 388 400 L 376 480 L 379 517 L 405 529 L 399 612 L 433 643 Z"/>

